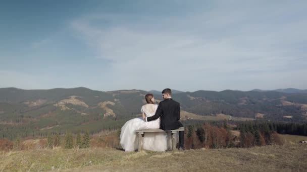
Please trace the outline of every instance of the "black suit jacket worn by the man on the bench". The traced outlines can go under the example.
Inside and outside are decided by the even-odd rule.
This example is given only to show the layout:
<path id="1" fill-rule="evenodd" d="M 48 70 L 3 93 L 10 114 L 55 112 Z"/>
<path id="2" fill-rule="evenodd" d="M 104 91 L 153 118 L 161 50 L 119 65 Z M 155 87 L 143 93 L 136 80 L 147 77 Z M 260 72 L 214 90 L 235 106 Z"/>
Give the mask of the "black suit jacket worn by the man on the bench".
<path id="1" fill-rule="evenodd" d="M 152 121 L 161 117 L 160 128 L 162 130 L 175 130 L 183 127 L 180 120 L 180 104 L 173 99 L 166 99 L 159 103 L 156 114 L 147 117 L 147 121 Z"/>

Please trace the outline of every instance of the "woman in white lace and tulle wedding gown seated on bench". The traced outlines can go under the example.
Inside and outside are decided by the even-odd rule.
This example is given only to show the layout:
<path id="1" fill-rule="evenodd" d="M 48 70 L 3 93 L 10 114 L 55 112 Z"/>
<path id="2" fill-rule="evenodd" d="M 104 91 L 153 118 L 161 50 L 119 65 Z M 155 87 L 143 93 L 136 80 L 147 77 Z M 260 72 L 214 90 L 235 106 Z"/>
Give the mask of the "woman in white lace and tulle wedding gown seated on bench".
<path id="1" fill-rule="evenodd" d="M 158 105 L 156 105 L 154 95 L 147 94 L 145 96 L 147 102 L 141 108 L 142 118 L 134 118 L 127 121 L 121 129 L 120 144 L 125 151 L 134 151 L 138 147 L 138 137 L 135 130 L 138 129 L 154 129 L 160 128 L 160 118 L 154 121 L 145 122 L 146 117 L 154 116 Z M 167 150 L 167 134 L 165 132 L 159 133 L 145 133 L 143 139 L 143 148 L 152 151 Z"/>

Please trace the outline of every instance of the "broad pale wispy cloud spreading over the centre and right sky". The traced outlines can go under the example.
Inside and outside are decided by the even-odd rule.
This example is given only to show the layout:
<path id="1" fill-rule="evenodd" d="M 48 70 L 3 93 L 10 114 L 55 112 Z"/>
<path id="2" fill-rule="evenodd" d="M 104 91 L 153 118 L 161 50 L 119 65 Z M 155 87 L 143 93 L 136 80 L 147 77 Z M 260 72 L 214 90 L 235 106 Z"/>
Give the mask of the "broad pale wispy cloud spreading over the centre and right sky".
<path id="1" fill-rule="evenodd" d="M 100 14 L 76 19 L 70 26 L 99 58 L 112 60 L 113 78 L 127 75 L 118 82 L 128 88 L 139 82 L 145 88 L 185 89 L 179 85 L 188 81 L 197 83 L 191 90 L 223 90 L 229 78 L 248 82 L 257 77 L 280 88 L 291 79 L 280 85 L 276 75 L 307 72 L 306 52 L 296 49 L 307 41 L 307 21 L 296 15 L 302 10 L 301 4 L 287 2 L 221 3 L 211 11 L 178 18 Z M 242 89 L 261 88 L 264 82 L 257 80 L 260 83 Z M 239 84 L 229 87 L 241 88 Z"/>

